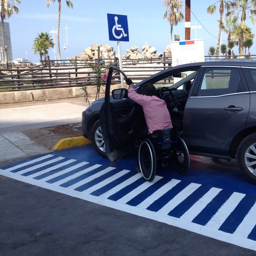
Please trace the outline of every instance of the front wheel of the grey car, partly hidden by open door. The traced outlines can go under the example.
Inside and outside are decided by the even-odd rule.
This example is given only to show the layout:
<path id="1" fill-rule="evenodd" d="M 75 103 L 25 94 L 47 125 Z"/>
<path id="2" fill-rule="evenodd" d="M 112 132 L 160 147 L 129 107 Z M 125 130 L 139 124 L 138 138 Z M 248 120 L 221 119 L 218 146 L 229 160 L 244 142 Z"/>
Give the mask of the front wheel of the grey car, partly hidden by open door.
<path id="1" fill-rule="evenodd" d="M 102 156 L 102 157 L 107 157 L 106 155 L 106 149 L 105 149 L 105 142 L 103 139 L 103 135 L 101 132 L 101 127 L 100 127 L 100 120 L 97 120 L 91 129 L 91 141 L 94 149 L 96 152 Z"/>

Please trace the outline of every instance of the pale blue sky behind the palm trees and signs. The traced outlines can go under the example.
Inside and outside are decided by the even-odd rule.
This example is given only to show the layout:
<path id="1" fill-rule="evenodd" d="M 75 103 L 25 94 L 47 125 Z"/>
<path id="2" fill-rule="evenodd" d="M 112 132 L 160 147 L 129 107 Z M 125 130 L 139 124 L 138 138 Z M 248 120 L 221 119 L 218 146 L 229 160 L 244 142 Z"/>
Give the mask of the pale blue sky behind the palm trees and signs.
<path id="1" fill-rule="evenodd" d="M 28 58 L 32 62 L 39 62 L 39 54 L 34 55 L 33 40 L 40 32 L 57 30 L 58 1 L 46 7 L 46 0 L 21 0 L 19 14 L 13 14 L 7 22 L 10 23 L 13 59 Z M 185 2 L 185 1 L 184 1 Z M 191 39 L 204 39 L 204 52 L 207 54 L 210 46 L 217 45 L 219 12 L 209 16 L 206 9 L 215 0 L 191 0 L 191 25 L 203 25 L 201 29 L 191 29 Z M 107 13 L 127 15 L 129 27 L 129 42 L 121 42 L 122 54 L 132 45 L 141 50 L 147 42 L 163 53 L 170 43 L 170 25 L 163 20 L 164 9 L 162 0 L 110 0 L 89 1 L 72 0 L 74 8 L 68 8 L 62 0 L 60 21 L 61 57 L 66 59 L 76 56 L 79 52 L 92 44 L 107 44 L 114 47 L 118 53 L 117 42 L 109 41 Z M 185 6 L 185 3 L 184 3 Z M 217 5 L 218 6 L 218 5 Z M 185 9 L 183 10 L 185 13 Z M 195 16 L 194 16 L 195 15 Z M 185 16 L 185 14 L 184 14 Z M 200 23 L 201 24 L 200 24 Z M 66 36 L 67 24 L 67 36 Z M 247 24 L 256 34 L 255 25 Z M 174 27 L 173 35 L 180 35 L 185 40 L 184 21 Z M 195 38 L 196 36 L 196 38 Z M 63 49 L 68 37 L 68 53 Z M 57 34 L 55 34 L 56 58 Z M 227 35 L 222 33 L 222 43 L 227 43 Z M 251 53 L 256 54 L 256 43 Z M 238 54 L 238 50 L 234 49 Z M 54 59 L 53 48 L 49 50 L 50 59 Z"/>

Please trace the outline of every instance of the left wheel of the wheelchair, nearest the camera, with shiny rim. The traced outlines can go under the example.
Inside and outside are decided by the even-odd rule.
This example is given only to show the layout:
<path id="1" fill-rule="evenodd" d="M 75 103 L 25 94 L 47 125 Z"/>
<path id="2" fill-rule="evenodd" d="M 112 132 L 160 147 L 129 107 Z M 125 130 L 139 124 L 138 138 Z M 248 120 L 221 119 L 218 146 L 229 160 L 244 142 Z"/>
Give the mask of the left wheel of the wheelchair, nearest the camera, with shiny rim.
<path id="1" fill-rule="evenodd" d="M 152 181 L 156 175 L 156 153 L 152 142 L 145 139 L 139 148 L 139 166 L 142 176 L 147 181 Z"/>

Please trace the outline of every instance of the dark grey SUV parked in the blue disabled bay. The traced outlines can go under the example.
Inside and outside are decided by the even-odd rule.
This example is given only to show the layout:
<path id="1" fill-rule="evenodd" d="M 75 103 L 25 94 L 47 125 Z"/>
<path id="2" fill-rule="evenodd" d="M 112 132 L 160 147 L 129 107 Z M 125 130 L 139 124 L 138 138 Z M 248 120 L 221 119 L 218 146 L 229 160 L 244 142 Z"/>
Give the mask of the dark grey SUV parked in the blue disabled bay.
<path id="1" fill-rule="evenodd" d="M 190 154 L 237 159 L 245 177 L 256 184 L 255 61 L 223 60 L 171 67 L 139 82 L 136 91 L 140 93 L 148 82 L 156 87 L 157 96 L 165 99 L 173 126 L 182 128 Z M 120 89 L 112 91 L 112 95 L 118 93 Z M 83 111 L 82 129 L 83 136 L 106 157 L 99 119 L 104 100 L 94 101 Z M 123 136 L 133 130 L 135 123 L 144 123 L 143 111 L 127 96 L 110 97 L 110 102 L 114 125 Z M 134 118 L 140 122 L 134 122 Z"/>

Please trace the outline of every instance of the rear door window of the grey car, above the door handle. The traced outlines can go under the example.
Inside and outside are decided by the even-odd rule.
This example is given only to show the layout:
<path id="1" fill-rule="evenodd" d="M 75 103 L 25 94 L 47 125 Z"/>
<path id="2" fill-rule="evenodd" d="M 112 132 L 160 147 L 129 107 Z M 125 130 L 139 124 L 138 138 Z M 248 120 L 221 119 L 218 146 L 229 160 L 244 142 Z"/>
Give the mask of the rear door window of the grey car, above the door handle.
<path id="1" fill-rule="evenodd" d="M 197 96 L 218 96 L 243 91 L 243 82 L 237 68 L 205 68 Z"/>

